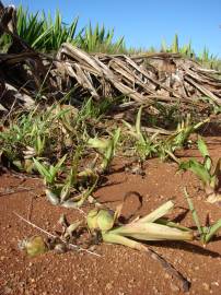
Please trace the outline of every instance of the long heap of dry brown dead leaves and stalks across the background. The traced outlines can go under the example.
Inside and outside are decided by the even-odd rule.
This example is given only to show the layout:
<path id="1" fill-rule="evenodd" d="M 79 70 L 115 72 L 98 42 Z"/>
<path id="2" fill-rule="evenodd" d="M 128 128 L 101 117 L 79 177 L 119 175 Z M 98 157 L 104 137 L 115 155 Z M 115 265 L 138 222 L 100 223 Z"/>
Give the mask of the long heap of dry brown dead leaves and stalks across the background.
<path id="1" fill-rule="evenodd" d="M 54 56 L 37 52 L 18 35 L 15 8 L 0 2 L 0 37 L 4 34 L 11 45 L 0 54 L 3 111 L 67 94 L 78 102 L 89 96 L 95 101 L 124 96 L 132 107 L 161 102 L 203 109 L 208 102 L 221 104 L 220 72 L 202 69 L 179 54 L 90 55 L 67 43 Z"/>

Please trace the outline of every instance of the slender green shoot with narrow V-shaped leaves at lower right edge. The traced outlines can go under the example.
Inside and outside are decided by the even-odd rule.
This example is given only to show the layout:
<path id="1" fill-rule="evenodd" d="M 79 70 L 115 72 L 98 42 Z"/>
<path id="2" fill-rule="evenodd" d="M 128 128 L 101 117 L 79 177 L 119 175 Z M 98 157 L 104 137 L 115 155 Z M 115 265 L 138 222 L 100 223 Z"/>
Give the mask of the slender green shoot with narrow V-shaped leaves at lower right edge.
<path id="1" fill-rule="evenodd" d="M 221 220 L 217 221 L 216 223 L 213 223 L 210 226 L 201 226 L 197 211 L 194 208 L 194 203 L 193 203 L 191 199 L 189 198 L 186 188 L 184 189 L 184 193 L 185 193 L 185 198 L 188 202 L 189 210 L 191 212 L 195 224 L 198 228 L 200 239 L 203 244 L 208 244 L 213 238 L 213 236 L 221 229 Z"/>

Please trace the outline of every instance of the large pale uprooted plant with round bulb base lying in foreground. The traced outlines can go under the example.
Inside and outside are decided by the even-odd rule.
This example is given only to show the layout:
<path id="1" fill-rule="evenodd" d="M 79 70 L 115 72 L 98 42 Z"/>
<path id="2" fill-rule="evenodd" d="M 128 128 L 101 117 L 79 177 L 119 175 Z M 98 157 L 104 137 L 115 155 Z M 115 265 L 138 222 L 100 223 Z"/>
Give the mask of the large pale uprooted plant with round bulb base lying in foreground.
<path id="1" fill-rule="evenodd" d="M 115 212 L 105 209 L 93 209 L 86 216 L 86 223 L 92 233 L 101 233 L 102 239 L 108 244 L 120 244 L 139 251 L 149 253 L 151 258 L 159 261 L 166 271 L 175 275 L 183 284 L 183 291 L 187 292 L 190 283 L 163 257 L 159 256 L 151 248 L 137 240 L 193 240 L 193 232 L 184 226 L 162 219 L 163 215 L 173 209 L 174 204 L 168 201 L 154 210 L 149 215 L 135 221 L 116 225 L 123 204 Z"/>

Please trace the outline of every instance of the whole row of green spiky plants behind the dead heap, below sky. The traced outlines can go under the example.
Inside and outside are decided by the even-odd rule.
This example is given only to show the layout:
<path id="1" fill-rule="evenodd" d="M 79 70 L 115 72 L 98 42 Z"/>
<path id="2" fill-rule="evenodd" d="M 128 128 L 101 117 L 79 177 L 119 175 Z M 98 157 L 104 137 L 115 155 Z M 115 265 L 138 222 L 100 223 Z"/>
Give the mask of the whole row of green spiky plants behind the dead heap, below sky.
<path id="1" fill-rule="evenodd" d="M 44 11 L 34 14 L 22 7 L 18 9 L 18 33 L 36 50 L 54 52 L 60 48 L 62 43 L 71 43 L 89 52 L 138 54 L 158 51 L 152 46 L 147 49 L 127 48 L 125 37 L 116 39 L 114 30 L 100 24 L 93 27 L 91 23 L 79 28 L 78 23 L 79 19 L 75 17 L 70 24 L 66 24 L 59 11 L 56 12 L 55 19 L 53 19 L 49 13 L 46 14 Z M 1 48 L 8 48 L 9 44 L 10 37 L 8 35 L 1 37 Z M 177 34 L 175 34 L 171 45 L 162 40 L 161 51 L 182 54 L 210 68 L 221 68 L 219 58 L 210 54 L 207 47 L 202 48 L 200 54 L 196 54 L 190 42 L 186 45 L 179 44 Z"/>

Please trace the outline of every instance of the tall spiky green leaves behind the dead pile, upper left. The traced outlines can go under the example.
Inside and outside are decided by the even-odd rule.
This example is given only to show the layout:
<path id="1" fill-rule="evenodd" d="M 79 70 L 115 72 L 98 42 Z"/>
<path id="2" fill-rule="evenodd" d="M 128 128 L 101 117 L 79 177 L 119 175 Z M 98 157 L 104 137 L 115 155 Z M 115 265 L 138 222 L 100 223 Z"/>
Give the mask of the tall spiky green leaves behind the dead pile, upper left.
<path id="1" fill-rule="evenodd" d="M 42 13 L 31 13 L 18 8 L 18 34 L 31 47 L 44 51 L 57 51 L 62 43 L 71 43 L 86 51 L 120 52 L 125 50 L 124 37 L 114 40 L 114 30 L 106 30 L 98 24 L 92 27 L 91 23 L 78 28 L 79 19 L 75 17 L 68 25 L 62 21 L 60 12 L 57 10 L 55 19 L 43 11 Z M 4 35 L 0 44 L 9 47 L 10 36 Z"/>

